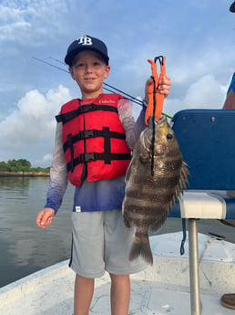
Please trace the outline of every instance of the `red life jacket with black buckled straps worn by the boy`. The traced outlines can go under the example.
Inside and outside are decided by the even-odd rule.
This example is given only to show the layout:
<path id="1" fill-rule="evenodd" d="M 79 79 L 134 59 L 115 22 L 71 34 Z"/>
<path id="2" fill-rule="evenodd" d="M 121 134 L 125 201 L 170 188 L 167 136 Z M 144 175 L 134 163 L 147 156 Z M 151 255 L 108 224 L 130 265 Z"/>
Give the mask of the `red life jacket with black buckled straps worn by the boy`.
<path id="1" fill-rule="evenodd" d="M 118 94 L 101 94 L 91 104 L 70 100 L 56 121 L 63 122 L 63 148 L 71 184 L 124 175 L 131 158 L 117 112 Z"/>

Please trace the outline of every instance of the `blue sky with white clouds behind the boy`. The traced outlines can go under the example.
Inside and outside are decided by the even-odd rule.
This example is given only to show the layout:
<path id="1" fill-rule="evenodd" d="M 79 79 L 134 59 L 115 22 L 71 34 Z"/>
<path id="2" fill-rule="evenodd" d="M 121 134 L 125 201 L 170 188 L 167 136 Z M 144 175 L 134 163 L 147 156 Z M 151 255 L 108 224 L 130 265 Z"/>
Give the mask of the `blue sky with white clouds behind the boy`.
<path id="1" fill-rule="evenodd" d="M 80 97 L 63 63 L 66 49 L 83 35 L 107 44 L 107 84 L 143 98 L 151 75 L 147 60 L 163 55 L 171 79 L 164 112 L 220 109 L 235 71 L 231 3 L 0 0 L 0 161 L 50 166 L 55 116 Z M 137 117 L 140 107 L 133 103 L 132 109 Z"/>

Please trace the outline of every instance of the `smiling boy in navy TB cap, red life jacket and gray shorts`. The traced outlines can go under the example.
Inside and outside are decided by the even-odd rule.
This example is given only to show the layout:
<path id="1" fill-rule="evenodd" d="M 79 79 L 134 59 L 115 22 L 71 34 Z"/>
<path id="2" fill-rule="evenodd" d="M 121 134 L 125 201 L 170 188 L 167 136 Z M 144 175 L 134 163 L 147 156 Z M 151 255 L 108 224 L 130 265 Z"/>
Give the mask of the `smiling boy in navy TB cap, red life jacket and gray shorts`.
<path id="1" fill-rule="evenodd" d="M 130 151 L 145 128 L 145 109 L 135 123 L 128 100 L 118 94 L 103 94 L 108 60 L 106 45 L 95 37 L 77 38 L 67 49 L 65 62 L 82 99 L 63 105 L 56 117 L 47 201 L 36 218 L 39 227 L 51 224 L 68 178 L 76 186 L 69 263 L 77 274 L 74 315 L 88 314 L 94 278 L 105 270 L 111 278 L 112 315 L 128 315 L 129 274 L 146 268 L 141 258 L 128 261 L 133 229 L 124 227 L 120 210 Z M 148 79 L 146 89 L 151 82 Z M 169 85 L 166 77 L 158 91 L 167 96 Z"/>

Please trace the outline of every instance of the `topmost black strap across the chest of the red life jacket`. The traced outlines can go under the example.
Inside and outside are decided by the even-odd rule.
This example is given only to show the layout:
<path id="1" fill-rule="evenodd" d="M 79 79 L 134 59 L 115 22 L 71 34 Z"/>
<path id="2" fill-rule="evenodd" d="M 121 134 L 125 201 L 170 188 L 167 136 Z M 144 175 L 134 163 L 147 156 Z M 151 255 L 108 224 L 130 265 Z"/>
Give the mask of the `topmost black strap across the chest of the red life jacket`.
<path id="1" fill-rule="evenodd" d="M 56 121 L 57 122 L 62 121 L 63 124 L 65 124 L 67 121 L 71 121 L 73 118 L 77 117 L 78 115 L 81 115 L 81 114 L 86 113 L 87 111 L 93 111 L 93 110 L 108 110 L 108 111 L 114 111 L 118 113 L 117 108 L 114 106 L 87 104 L 87 105 L 80 105 L 77 110 L 71 110 L 63 114 L 57 115 Z"/>

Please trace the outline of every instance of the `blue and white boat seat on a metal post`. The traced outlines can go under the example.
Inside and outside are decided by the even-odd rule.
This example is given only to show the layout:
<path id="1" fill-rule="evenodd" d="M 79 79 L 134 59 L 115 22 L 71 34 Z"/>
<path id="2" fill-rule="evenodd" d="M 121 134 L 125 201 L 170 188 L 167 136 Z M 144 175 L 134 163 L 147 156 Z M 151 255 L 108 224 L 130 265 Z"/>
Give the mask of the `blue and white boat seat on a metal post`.
<path id="1" fill-rule="evenodd" d="M 169 217 L 188 219 L 191 315 L 200 315 L 197 220 L 235 219 L 235 110 L 180 110 L 172 123 L 190 175 Z"/>

